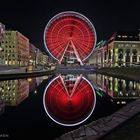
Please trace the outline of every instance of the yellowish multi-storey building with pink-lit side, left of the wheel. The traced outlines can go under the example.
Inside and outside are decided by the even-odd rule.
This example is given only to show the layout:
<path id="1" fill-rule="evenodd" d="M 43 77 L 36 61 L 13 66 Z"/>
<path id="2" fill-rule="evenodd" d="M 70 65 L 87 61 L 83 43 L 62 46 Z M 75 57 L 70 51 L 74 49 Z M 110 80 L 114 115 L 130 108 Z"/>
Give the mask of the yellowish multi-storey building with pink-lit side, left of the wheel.
<path id="1" fill-rule="evenodd" d="M 29 60 L 29 39 L 18 31 L 5 31 L 2 40 L 3 65 L 27 66 Z"/>

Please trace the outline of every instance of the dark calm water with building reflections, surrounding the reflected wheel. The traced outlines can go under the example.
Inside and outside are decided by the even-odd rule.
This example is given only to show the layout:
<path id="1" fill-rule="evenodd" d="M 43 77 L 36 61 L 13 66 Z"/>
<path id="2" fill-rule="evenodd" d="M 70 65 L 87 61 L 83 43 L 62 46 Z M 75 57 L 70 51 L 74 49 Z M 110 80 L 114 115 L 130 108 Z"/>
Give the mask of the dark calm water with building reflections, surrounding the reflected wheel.
<path id="1" fill-rule="evenodd" d="M 96 106 L 84 123 L 66 127 L 52 121 L 43 107 L 46 86 L 56 77 L 0 81 L 0 134 L 10 138 L 46 138 L 52 140 L 68 131 L 88 124 L 140 96 L 140 83 L 104 75 L 83 75 L 96 92 Z"/>

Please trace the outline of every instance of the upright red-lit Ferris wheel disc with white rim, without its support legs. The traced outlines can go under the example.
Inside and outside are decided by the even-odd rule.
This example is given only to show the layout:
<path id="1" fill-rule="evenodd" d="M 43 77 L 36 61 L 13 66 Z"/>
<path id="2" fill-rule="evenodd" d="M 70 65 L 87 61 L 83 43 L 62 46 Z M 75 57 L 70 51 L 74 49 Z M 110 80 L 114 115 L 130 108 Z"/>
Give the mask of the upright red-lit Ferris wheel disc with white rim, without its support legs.
<path id="1" fill-rule="evenodd" d="M 84 15 L 67 11 L 55 15 L 44 30 L 44 44 L 47 52 L 60 60 L 67 44 L 72 41 L 82 61 L 93 52 L 96 45 L 96 31 Z"/>

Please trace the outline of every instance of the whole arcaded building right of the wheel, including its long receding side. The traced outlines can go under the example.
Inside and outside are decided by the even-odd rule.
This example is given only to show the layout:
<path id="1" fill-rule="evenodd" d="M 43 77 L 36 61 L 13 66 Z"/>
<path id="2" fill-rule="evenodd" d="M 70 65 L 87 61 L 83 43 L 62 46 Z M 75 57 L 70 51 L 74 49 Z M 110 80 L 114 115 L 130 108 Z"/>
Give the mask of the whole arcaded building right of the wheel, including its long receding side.
<path id="1" fill-rule="evenodd" d="M 118 31 L 96 46 L 90 62 L 97 67 L 132 66 L 140 63 L 140 32 Z"/>

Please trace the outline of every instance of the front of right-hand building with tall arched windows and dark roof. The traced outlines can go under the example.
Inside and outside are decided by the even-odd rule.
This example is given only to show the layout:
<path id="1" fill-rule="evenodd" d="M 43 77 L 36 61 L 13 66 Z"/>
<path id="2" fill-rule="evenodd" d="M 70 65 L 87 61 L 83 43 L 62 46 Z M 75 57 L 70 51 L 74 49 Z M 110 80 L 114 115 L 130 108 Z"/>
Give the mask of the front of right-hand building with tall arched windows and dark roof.
<path id="1" fill-rule="evenodd" d="M 109 62 L 114 66 L 131 66 L 140 62 L 140 40 L 138 31 L 117 32 L 108 41 Z"/>

